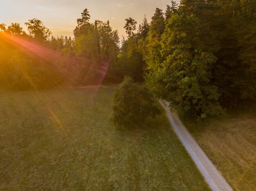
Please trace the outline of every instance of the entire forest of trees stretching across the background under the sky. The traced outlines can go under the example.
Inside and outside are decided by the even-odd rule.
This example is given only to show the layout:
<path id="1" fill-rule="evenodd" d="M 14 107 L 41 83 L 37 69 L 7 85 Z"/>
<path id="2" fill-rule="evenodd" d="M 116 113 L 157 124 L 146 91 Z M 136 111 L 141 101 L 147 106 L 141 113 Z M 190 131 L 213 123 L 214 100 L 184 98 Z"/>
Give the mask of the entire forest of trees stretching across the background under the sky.
<path id="1" fill-rule="evenodd" d="M 255 106 L 256 0 L 171 1 L 138 24 L 124 20 L 119 40 L 109 21 L 77 19 L 74 37 L 54 37 L 34 18 L 0 24 L 0 88 L 144 83 L 180 115 L 206 118 Z M 4 64 L 2 64 L 4 63 Z"/>

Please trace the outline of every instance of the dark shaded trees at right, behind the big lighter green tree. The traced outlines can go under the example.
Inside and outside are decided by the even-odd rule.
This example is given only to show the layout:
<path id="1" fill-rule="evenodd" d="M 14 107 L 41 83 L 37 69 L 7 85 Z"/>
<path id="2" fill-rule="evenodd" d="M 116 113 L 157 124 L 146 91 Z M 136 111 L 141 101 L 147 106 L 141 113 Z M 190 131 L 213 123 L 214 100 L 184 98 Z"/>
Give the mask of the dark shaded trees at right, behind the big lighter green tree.
<path id="1" fill-rule="evenodd" d="M 235 108 L 245 99 L 254 99 L 256 71 L 256 1 L 182 0 L 179 12 L 193 13 L 213 33 L 213 82 L 222 107 Z"/>

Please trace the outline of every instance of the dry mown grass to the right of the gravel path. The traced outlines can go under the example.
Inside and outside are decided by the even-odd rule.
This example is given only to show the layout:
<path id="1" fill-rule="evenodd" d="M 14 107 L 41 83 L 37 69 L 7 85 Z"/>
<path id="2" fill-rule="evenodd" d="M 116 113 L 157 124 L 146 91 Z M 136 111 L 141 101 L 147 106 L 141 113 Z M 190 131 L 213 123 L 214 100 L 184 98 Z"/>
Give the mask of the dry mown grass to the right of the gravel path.
<path id="1" fill-rule="evenodd" d="M 256 113 L 212 118 L 205 125 L 185 121 L 204 152 L 236 191 L 256 189 Z"/>

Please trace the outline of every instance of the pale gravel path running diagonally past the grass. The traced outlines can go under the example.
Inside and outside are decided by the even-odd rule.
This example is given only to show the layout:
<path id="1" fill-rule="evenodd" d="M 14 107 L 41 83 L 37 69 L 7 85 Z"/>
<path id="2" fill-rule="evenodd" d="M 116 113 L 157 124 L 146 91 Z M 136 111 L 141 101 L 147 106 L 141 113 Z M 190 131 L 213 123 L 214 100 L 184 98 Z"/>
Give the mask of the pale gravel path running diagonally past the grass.
<path id="1" fill-rule="evenodd" d="M 213 163 L 204 154 L 204 151 L 202 151 L 198 143 L 195 142 L 186 127 L 184 127 L 177 114 L 170 112 L 168 102 L 159 100 L 159 103 L 166 111 L 166 115 L 173 127 L 174 132 L 177 134 L 180 141 L 189 152 L 189 155 L 195 162 L 198 169 L 201 171 L 210 188 L 213 191 L 232 191 L 227 181 L 221 176 L 216 167 L 214 167 Z"/>

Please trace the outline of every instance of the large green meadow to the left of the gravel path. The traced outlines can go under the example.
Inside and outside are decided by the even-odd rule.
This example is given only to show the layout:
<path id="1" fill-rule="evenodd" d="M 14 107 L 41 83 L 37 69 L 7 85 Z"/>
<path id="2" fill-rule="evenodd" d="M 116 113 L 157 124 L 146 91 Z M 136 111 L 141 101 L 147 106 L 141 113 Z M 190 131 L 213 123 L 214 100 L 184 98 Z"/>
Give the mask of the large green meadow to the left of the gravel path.
<path id="1" fill-rule="evenodd" d="M 117 130 L 93 92 L 0 93 L 0 190 L 209 190 L 164 114 Z"/>

